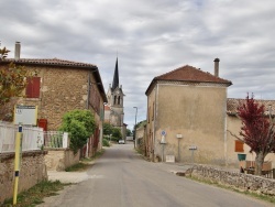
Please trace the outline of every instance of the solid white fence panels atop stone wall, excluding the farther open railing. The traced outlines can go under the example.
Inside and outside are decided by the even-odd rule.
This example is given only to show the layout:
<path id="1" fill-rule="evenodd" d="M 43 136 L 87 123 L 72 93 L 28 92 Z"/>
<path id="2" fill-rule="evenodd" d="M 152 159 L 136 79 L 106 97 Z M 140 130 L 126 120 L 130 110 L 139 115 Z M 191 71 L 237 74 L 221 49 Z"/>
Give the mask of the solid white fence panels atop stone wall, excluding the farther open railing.
<path id="1" fill-rule="evenodd" d="M 0 122 L 0 153 L 14 152 L 18 127 Z M 40 150 L 44 143 L 43 129 L 23 127 L 22 151 Z"/>

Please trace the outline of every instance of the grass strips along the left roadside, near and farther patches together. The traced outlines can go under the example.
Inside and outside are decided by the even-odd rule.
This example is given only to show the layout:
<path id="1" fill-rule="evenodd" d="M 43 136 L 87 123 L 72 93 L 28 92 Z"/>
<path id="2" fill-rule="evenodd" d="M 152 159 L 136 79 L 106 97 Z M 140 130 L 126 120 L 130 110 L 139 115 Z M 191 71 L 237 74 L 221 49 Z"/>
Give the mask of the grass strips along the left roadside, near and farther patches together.
<path id="1" fill-rule="evenodd" d="M 67 172 L 86 171 L 92 165 L 92 161 L 100 157 L 105 151 L 97 152 L 91 159 L 82 159 L 79 163 L 66 168 Z M 32 188 L 22 192 L 18 195 L 16 207 L 34 207 L 42 204 L 43 198 L 58 195 L 57 192 L 64 189 L 64 186 L 72 185 L 69 183 L 61 183 L 59 181 L 43 181 Z M 4 200 L 0 207 L 12 207 L 13 198 Z"/>

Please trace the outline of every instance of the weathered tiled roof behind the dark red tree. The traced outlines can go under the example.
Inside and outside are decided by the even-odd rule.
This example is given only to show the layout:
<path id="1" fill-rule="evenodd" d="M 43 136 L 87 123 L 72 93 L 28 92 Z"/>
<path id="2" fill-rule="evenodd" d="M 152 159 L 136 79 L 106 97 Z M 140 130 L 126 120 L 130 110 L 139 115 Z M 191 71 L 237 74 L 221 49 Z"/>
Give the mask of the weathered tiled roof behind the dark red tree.
<path id="1" fill-rule="evenodd" d="M 245 99 L 228 98 L 227 112 L 229 115 L 237 115 L 238 107 L 244 102 L 245 102 Z M 258 105 L 264 105 L 265 110 L 266 110 L 266 115 L 270 113 L 270 106 L 271 106 L 271 112 L 273 116 L 275 115 L 275 100 L 255 99 L 255 102 L 257 102 Z"/>

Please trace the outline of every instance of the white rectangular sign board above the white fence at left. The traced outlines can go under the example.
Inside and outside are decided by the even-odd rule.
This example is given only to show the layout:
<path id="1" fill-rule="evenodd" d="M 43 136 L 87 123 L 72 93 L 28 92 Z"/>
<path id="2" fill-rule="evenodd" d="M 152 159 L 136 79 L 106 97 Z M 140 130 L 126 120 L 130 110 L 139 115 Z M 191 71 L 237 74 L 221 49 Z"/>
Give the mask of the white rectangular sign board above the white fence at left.
<path id="1" fill-rule="evenodd" d="M 37 124 L 37 106 L 21 106 L 18 105 L 14 107 L 14 124 Z"/>

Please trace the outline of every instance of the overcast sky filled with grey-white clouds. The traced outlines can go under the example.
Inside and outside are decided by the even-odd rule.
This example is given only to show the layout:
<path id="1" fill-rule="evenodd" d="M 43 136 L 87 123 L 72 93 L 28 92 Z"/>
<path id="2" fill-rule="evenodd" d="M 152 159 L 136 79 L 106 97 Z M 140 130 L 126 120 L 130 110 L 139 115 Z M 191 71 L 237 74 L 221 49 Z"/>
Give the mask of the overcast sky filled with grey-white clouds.
<path id="1" fill-rule="evenodd" d="M 1 0 L 0 41 L 14 57 L 98 66 L 106 89 L 119 59 L 129 129 L 146 119 L 156 76 L 191 65 L 231 80 L 229 98 L 275 100 L 274 0 Z"/>

